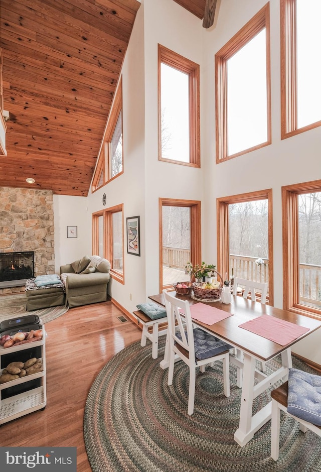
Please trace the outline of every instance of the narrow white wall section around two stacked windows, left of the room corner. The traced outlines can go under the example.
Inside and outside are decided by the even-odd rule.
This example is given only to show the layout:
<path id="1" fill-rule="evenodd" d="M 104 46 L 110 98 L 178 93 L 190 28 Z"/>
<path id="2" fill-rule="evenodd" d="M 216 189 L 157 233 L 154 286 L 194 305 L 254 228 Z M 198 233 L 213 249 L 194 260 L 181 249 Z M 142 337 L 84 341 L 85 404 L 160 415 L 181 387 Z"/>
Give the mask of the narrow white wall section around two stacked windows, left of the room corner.
<path id="1" fill-rule="evenodd" d="M 173 0 L 144 0 L 146 296 L 159 292 L 158 198 L 202 200 L 203 171 L 158 161 L 158 43 L 200 63 L 202 22 Z"/>

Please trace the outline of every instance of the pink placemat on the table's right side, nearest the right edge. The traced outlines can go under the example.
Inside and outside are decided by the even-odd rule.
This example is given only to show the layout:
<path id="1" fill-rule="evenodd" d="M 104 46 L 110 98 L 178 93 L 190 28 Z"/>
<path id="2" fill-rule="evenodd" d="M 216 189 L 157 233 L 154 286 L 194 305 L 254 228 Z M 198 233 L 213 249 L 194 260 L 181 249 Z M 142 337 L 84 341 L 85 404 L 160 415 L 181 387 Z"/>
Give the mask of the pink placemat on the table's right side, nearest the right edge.
<path id="1" fill-rule="evenodd" d="M 294 341 L 294 339 L 309 331 L 309 328 L 298 326 L 270 315 L 261 315 L 258 318 L 240 324 L 239 327 L 265 337 L 270 341 L 277 342 L 281 346 L 285 346 L 285 344 Z"/>

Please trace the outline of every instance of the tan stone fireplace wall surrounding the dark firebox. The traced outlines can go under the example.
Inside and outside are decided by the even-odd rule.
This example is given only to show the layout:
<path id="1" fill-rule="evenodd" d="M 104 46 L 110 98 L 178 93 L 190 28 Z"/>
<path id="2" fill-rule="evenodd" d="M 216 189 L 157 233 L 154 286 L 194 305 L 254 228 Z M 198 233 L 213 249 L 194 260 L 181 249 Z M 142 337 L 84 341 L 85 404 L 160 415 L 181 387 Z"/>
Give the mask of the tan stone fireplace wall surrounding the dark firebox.
<path id="1" fill-rule="evenodd" d="M 52 191 L 0 187 L 0 261 L 24 252 L 34 253 L 34 277 L 55 273 Z M 25 282 L 13 285 L 0 286 L 0 294 L 25 290 Z"/>

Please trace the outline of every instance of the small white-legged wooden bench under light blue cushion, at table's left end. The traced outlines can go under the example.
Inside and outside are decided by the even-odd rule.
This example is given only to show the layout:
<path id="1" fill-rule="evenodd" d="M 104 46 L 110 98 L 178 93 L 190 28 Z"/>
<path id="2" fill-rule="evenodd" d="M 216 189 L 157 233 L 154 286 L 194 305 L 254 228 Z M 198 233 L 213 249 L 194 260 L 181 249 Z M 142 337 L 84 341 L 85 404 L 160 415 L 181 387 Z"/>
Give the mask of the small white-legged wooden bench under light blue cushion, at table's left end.
<path id="1" fill-rule="evenodd" d="M 151 357 L 157 359 L 158 357 L 158 336 L 162 336 L 167 333 L 167 317 L 151 319 L 141 310 L 133 311 L 133 314 L 137 320 L 138 326 L 142 325 L 141 333 L 141 347 L 146 345 L 146 339 L 151 341 Z M 165 327 L 165 329 L 163 329 Z M 151 331 L 148 330 L 151 328 Z"/>

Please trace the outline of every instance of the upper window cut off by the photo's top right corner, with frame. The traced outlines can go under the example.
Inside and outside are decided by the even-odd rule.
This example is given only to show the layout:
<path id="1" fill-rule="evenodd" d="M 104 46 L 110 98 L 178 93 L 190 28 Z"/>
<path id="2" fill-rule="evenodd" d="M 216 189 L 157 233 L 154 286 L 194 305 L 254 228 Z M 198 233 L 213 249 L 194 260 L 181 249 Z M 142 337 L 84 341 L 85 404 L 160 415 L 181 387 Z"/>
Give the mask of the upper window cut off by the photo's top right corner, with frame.
<path id="1" fill-rule="evenodd" d="M 281 138 L 321 126 L 319 0 L 280 0 Z"/>

